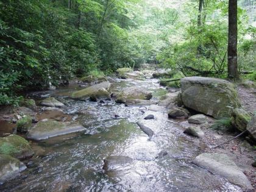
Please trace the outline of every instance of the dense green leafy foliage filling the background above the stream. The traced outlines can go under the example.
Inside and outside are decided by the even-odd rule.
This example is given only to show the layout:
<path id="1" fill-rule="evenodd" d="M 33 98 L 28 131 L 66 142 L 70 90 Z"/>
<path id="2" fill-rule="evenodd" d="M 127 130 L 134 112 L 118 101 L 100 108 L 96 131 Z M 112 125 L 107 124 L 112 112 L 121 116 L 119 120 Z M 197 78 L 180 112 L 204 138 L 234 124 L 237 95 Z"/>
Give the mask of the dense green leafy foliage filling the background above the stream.
<path id="1" fill-rule="evenodd" d="M 228 1 L 204 1 L 199 12 L 199 0 L 0 0 L 0 105 L 18 102 L 19 91 L 145 62 L 176 76 L 226 77 Z M 255 71 L 252 15 L 239 10 L 240 71 Z"/>

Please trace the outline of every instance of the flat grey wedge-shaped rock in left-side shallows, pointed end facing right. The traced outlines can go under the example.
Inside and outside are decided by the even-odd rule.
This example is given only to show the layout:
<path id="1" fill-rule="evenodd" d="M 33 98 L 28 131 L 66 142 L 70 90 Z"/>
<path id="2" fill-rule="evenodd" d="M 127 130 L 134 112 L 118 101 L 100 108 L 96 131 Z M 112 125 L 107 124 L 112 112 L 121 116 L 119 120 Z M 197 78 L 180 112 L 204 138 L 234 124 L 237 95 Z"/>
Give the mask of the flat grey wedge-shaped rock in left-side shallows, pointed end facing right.
<path id="1" fill-rule="evenodd" d="M 67 123 L 44 119 L 39 121 L 34 127 L 32 127 L 32 129 L 29 130 L 27 138 L 32 140 L 46 140 L 51 137 L 80 132 L 83 130 L 85 130 L 85 127 L 78 123 Z"/>

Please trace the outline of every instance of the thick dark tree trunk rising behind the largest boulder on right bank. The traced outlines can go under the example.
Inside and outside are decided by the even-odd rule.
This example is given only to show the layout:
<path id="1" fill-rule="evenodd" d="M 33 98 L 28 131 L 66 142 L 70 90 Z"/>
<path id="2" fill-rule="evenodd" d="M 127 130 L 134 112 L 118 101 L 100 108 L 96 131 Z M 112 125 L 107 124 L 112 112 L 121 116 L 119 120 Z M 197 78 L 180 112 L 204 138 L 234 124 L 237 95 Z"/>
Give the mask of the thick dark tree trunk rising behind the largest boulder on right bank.
<path id="1" fill-rule="evenodd" d="M 228 77 L 239 79 L 237 67 L 237 0 L 229 0 L 229 44 L 227 47 Z"/>

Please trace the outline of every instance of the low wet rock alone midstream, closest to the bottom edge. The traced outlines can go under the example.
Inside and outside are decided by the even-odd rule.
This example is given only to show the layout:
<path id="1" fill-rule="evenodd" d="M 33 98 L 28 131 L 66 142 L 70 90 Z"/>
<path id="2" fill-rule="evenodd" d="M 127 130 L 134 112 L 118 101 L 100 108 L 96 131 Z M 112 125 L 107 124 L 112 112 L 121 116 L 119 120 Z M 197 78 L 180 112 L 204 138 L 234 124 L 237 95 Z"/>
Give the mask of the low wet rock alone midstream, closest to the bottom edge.
<path id="1" fill-rule="evenodd" d="M 102 169 L 104 169 L 104 171 L 111 171 L 130 165 L 133 162 L 133 159 L 125 156 L 110 156 L 103 161 L 104 166 Z"/>

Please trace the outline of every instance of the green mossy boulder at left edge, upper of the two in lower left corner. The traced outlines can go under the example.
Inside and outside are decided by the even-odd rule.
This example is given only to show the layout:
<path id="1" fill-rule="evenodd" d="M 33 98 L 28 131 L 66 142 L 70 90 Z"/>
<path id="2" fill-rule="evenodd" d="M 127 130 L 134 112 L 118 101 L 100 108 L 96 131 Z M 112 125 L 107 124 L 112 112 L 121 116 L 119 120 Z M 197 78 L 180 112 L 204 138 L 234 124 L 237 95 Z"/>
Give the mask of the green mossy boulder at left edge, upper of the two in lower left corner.
<path id="1" fill-rule="evenodd" d="M 34 151 L 29 142 L 18 135 L 9 135 L 0 138 L 0 154 L 10 155 L 18 159 L 29 158 L 34 155 Z"/>

